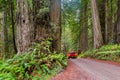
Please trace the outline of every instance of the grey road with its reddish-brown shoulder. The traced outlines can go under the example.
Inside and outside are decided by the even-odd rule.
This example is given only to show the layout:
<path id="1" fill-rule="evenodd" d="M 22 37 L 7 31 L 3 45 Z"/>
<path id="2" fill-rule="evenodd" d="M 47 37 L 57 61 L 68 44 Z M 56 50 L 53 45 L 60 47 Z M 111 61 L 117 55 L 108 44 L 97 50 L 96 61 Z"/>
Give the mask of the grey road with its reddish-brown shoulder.
<path id="1" fill-rule="evenodd" d="M 96 59 L 69 59 L 51 80 L 120 80 L 120 63 Z"/>

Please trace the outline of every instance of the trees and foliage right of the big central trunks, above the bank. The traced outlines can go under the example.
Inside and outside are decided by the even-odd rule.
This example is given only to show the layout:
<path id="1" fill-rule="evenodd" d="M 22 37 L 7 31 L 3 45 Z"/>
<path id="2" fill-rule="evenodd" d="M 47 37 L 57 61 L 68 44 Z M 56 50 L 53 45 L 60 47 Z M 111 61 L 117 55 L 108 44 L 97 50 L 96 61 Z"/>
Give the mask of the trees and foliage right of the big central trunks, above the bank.
<path id="1" fill-rule="evenodd" d="M 93 8 L 89 0 L 66 1 L 63 10 L 63 20 L 65 20 L 63 25 L 66 31 L 63 30 L 63 32 L 66 33 L 66 39 L 70 39 L 67 45 L 84 51 L 88 48 L 100 48 L 102 45 L 119 44 L 118 2 L 117 0 L 96 0 L 96 4 L 93 4 L 96 8 Z M 68 37 L 68 34 L 71 35 Z"/>

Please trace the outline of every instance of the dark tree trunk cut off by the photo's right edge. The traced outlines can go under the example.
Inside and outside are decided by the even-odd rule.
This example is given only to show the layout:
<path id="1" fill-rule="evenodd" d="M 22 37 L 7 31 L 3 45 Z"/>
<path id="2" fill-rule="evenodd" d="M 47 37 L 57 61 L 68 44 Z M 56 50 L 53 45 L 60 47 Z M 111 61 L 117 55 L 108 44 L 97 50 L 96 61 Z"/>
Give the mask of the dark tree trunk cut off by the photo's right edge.
<path id="1" fill-rule="evenodd" d="M 120 44 L 120 0 L 117 2 L 118 10 L 117 10 L 117 43 Z"/>

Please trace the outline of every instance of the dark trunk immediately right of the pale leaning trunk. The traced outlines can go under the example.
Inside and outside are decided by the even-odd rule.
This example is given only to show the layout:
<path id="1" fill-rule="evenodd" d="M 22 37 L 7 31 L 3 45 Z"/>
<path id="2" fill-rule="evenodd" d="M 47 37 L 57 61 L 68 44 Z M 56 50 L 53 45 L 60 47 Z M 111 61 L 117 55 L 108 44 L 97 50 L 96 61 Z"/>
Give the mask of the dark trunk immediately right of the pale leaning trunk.
<path id="1" fill-rule="evenodd" d="M 100 3 L 98 3 L 98 9 L 99 9 L 99 16 L 100 16 L 100 25 L 101 25 L 101 31 L 102 31 L 102 37 L 103 37 L 103 44 L 107 43 L 106 40 L 106 30 L 105 30 L 105 13 L 106 13 L 106 0 L 101 0 Z"/>

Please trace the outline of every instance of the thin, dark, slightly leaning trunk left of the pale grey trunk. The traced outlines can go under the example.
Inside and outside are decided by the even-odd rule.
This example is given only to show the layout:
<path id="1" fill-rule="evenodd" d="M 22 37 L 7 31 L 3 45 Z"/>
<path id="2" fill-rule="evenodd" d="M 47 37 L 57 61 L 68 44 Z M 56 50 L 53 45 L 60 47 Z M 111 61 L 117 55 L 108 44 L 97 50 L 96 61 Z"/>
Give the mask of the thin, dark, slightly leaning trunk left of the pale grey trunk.
<path id="1" fill-rule="evenodd" d="M 17 53 L 16 41 L 15 41 L 15 28 L 14 28 L 14 12 L 13 12 L 13 2 L 10 0 L 10 9 L 11 9 L 11 23 L 12 23 L 12 39 L 13 39 L 13 46 L 14 51 Z"/>

